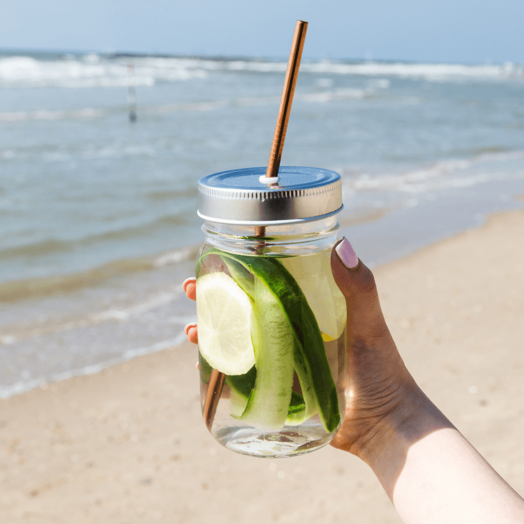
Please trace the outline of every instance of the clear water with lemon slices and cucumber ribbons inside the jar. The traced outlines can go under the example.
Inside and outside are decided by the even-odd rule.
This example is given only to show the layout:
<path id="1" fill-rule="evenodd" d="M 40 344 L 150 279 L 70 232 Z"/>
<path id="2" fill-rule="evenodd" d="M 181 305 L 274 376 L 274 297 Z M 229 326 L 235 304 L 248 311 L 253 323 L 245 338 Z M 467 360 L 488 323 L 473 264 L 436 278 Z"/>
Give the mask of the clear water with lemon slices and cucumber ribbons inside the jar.
<path id="1" fill-rule="evenodd" d="M 202 410 L 228 449 L 299 455 L 328 444 L 340 427 L 346 304 L 330 256 L 331 246 L 297 256 L 202 247 L 196 266 Z"/>

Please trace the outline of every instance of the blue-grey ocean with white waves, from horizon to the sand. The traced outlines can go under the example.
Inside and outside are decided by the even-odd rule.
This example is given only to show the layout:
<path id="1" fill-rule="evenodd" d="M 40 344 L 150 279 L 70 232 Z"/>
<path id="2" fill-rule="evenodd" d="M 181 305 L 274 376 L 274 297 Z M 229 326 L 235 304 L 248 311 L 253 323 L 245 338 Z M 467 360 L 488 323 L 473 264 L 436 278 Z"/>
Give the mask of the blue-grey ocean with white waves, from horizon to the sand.
<path id="1" fill-rule="evenodd" d="M 0 397 L 184 340 L 197 181 L 267 163 L 285 70 L 0 54 Z M 282 165 L 341 173 L 373 267 L 522 209 L 523 95 L 519 64 L 303 60 Z"/>

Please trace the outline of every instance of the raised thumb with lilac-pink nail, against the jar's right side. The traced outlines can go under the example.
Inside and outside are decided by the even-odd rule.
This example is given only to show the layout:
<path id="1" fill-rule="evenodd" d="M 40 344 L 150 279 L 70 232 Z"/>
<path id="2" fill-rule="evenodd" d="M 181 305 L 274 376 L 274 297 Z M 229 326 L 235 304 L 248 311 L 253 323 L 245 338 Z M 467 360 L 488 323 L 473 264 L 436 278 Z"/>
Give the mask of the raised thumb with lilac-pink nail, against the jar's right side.
<path id="1" fill-rule="evenodd" d="M 331 270 L 346 299 L 348 342 L 374 345 L 377 339 L 389 334 L 375 277 L 345 237 L 333 247 Z"/>

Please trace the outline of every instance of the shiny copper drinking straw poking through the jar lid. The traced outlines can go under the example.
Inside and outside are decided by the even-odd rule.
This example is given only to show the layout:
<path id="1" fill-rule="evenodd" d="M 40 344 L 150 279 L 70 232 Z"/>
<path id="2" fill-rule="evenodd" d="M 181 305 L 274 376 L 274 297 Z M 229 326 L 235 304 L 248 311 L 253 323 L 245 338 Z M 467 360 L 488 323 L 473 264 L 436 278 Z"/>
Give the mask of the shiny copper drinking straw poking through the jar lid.
<path id="1" fill-rule="evenodd" d="M 282 97 L 280 99 L 280 107 L 278 109 L 275 134 L 273 135 L 273 143 L 271 145 L 269 162 L 266 169 L 266 177 L 268 178 L 278 176 L 280 159 L 282 158 L 282 149 L 284 147 L 284 140 L 286 139 L 286 130 L 288 128 L 289 112 L 291 111 L 291 104 L 293 103 L 294 88 L 297 84 L 297 75 L 300 68 L 300 59 L 302 58 L 305 31 L 307 31 L 307 29 L 307 22 L 297 20 L 293 35 L 293 42 L 291 44 L 291 51 L 289 53 L 288 69 L 286 70 L 286 78 L 284 79 Z M 266 227 L 256 226 L 255 236 L 266 236 Z M 261 253 L 262 248 L 264 247 L 264 241 L 260 241 L 260 244 L 259 252 Z M 222 394 L 222 388 L 224 387 L 225 379 L 226 376 L 219 370 L 211 370 L 208 390 L 206 391 L 204 400 L 204 421 L 205 425 L 210 431 L 211 426 L 213 425 L 213 419 L 215 418 L 216 406 L 218 405 L 220 395 Z"/>

